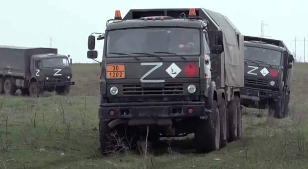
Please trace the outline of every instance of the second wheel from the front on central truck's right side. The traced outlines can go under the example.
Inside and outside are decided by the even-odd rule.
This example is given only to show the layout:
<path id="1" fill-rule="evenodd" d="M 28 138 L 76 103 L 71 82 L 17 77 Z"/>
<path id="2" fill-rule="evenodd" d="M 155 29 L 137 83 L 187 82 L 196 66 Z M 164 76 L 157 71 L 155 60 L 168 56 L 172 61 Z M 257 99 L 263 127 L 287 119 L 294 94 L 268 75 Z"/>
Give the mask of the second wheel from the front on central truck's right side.
<path id="1" fill-rule="evenodd" d="M 228 143 L 227 139 L 228 123 L 227 123 L 227 105 L 225 99 L 222 100 L 222 103 L 220 104 L 218 109 L 220 117 L 220 146 L 226 147 Z"/>

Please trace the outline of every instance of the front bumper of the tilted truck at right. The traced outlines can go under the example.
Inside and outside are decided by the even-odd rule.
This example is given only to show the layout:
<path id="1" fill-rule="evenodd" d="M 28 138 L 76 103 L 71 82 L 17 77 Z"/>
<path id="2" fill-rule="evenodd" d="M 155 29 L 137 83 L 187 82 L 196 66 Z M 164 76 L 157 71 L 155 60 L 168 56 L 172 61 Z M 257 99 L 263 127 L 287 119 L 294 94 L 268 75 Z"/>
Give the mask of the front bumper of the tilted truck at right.
<path id="1" fill-rule="evenodd" d="M 266 89 L 243 87 L 241 88 L 241 99 L 259 102 L 266 99 L 278 100 L 281 98 L 281 92 Z"/>

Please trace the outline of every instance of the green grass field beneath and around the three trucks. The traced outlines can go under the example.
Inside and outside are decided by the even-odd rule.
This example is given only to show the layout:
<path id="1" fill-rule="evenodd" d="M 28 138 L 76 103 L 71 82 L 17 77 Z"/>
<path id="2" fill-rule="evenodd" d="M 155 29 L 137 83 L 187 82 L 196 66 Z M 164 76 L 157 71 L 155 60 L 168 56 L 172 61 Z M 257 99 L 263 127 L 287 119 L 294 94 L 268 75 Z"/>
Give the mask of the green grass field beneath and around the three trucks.
<path id="1" fill-rule="evenodd" d="M 290 117 L 246 109 L 243 138 L 209 154 L 191 140 L 162 141 L 143 153 L 99 152 L 98 64 L 73 65 L 70 96 L 0 96 L 0 169 L 307 169 L 308 64 L 296 64 Z M 263 114 L 256 117 L 257 113 Z"/>

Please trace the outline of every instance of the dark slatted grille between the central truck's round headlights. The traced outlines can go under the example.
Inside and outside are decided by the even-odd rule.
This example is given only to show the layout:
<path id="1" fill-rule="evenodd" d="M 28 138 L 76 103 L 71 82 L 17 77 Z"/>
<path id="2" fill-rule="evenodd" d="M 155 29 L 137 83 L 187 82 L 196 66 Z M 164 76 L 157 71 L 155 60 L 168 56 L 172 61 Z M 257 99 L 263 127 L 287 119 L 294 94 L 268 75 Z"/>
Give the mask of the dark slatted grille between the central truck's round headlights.
<path id="1" fill-rule="evenodd" d="M 137 85 L 123 85 L 123 95 L 181 95 L 183 84 L 164 84 L 161 87 L 142 87 Z"/>

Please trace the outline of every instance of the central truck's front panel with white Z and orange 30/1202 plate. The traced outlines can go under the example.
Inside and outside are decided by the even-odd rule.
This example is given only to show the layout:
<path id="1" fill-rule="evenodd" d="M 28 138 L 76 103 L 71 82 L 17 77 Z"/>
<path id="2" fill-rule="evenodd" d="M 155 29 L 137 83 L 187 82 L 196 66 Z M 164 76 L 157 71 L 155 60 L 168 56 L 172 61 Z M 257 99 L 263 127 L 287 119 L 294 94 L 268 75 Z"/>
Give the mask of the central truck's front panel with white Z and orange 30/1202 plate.
<path id="1" fill-rule="evenodd" d="M 199 56 L 160 56 L 135 58 L 107 58 L 106 81 L 116 83 L 164 83 L 199 81 Z M 120 67 L 120 70 L 118 69 Z M 120 74 L 119 74 L 120 73 Z"/>

